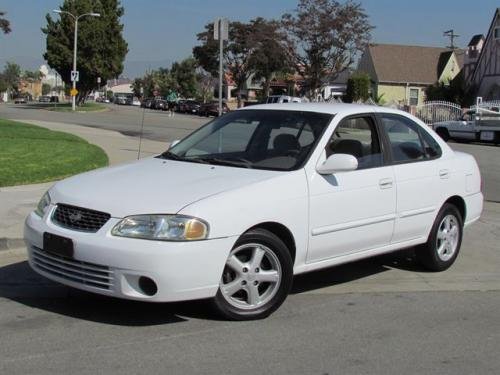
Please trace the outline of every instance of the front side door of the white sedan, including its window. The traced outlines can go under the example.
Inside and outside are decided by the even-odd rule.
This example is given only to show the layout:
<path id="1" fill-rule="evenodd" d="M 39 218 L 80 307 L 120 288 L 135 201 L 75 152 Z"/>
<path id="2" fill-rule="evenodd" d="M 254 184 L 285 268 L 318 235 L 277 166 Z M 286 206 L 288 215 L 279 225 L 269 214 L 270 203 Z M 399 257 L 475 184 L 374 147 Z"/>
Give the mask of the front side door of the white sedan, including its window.
<path id="1" fill-rule="evenodd" d="M 310 172 L 309 263 L 390 243 L 396 193 L 383 147 L 372 114 L 344 118 L 335 128 L 319 162 L 333 153 L 350 154 L 358 169 L 327 176 Z"/>

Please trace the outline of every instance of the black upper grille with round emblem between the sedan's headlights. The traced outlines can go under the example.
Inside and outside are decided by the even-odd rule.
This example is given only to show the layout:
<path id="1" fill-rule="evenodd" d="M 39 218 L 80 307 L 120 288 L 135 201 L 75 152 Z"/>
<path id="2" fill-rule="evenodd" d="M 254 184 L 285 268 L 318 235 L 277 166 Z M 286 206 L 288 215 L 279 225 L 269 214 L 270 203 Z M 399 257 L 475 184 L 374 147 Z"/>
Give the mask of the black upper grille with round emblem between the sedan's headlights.
<path id="1" fill-rule="evenodd" d="M 110 214 L 87 208 L 57 205 L 52 221 L 61 227 L 83 232 L 97 232 L 111 217 Z"/>

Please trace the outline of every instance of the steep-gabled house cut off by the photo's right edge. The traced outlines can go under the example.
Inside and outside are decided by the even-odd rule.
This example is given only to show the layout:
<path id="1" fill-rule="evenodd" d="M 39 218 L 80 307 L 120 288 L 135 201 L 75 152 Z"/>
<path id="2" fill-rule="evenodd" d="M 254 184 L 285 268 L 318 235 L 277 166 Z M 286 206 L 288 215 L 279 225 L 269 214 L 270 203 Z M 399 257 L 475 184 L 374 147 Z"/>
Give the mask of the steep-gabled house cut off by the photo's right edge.
<path id="1" fill-rule="evenodd" d="M 467 84 L 477 90 L 477 96 L 483 100 L 500 99 L 500 8 L 495 11 Z"/>

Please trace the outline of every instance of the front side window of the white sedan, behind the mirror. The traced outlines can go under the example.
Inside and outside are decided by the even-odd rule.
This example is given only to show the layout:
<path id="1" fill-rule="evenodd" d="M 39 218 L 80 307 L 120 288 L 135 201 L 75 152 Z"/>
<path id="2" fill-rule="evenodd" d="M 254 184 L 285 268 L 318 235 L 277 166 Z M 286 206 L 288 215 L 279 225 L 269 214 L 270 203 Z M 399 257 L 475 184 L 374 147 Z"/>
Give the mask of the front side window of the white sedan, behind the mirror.
<path id="1" fill-rule="evenodd" d="M 382 151 L 377 128 L 371 116 L 342 120 L 326 147 L 326 156 L 349 154 L 358 159 L 358 169 L 380 167 Z"/>

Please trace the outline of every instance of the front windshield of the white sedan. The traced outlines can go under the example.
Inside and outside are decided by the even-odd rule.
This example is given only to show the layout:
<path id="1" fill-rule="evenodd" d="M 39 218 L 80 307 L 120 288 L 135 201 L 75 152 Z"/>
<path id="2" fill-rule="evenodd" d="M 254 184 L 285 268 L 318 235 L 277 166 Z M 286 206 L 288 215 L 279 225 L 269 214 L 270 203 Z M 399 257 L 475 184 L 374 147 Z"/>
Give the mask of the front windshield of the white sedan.
<path id="1" fill-rule="evenodd" d="M 234 111 L 203 126 L 159 157 L 241 168 L 300 168 L 333 115 L 281 110 Z"/>

